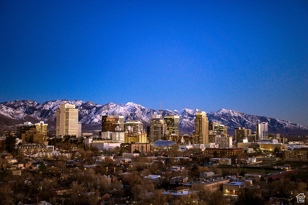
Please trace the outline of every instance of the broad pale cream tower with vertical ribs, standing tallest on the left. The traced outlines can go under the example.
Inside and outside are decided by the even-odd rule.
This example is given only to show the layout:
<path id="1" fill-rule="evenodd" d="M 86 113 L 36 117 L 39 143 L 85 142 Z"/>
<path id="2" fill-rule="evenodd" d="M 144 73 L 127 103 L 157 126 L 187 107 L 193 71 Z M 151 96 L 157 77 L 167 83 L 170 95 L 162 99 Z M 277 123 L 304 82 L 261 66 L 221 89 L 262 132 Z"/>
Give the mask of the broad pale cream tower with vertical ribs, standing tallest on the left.
<path id="1" fill-rule="evenodd" d="M 78 136 L 78 109 L 68 103 L 57 109 L 56 136 L 64 135 Z"/>

